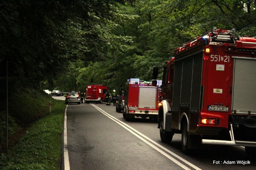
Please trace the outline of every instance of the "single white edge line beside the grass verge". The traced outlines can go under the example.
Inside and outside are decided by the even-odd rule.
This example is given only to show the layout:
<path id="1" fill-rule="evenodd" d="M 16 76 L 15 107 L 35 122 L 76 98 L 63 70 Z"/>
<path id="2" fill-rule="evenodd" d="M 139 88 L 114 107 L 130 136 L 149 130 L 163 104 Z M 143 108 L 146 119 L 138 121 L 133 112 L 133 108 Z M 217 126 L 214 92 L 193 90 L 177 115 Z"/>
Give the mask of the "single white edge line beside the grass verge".
<path id="1" fill-rule="evenodd" d="M 64 170 L 70 170 L 68 140 L 67 140 L 67 108 L 68 108 L 68 104 L 66 106 L 65 116 L 64 116 Z"/>

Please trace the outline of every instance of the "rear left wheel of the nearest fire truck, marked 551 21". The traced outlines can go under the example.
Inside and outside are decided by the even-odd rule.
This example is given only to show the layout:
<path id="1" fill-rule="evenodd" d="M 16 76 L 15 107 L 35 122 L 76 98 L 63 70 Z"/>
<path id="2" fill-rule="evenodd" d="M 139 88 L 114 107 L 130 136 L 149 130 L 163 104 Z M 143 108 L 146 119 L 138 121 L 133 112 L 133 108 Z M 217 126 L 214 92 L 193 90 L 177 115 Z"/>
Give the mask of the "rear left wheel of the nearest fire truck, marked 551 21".
<path id="1" fill-rule="evenodd" d="M 190 135 L 187 131 L 187 122 L 183 122 L 182 124 L 182 130 L 181 130 L 181 147 L 182 152 L 184 154 L 189 154 L 190 149 L 188 148 L 188 143 L 190 142 Z"/>

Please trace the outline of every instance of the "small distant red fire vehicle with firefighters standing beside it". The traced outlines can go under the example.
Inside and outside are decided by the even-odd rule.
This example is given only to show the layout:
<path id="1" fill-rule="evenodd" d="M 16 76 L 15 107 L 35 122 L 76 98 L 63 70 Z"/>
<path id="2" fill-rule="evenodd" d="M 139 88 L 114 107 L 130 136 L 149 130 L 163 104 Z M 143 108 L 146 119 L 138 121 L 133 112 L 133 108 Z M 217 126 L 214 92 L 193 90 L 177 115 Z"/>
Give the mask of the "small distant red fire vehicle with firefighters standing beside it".
<path id="1" fill-rule="evenodd" d="M 107 91 L 107 89 L 108 87 L 105 85 L 87 85 L 85 102 L 102 103 L 102 101 L 106 101 L 105 92 Z"/>

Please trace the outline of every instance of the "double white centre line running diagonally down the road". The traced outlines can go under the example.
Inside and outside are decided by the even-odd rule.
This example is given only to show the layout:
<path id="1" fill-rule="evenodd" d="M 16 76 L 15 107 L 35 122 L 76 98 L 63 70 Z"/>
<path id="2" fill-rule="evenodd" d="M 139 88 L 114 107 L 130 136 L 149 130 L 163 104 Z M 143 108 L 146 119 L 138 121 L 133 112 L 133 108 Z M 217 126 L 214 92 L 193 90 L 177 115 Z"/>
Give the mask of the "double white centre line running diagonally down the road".
<path id="1" fill-rule="evenodd" d="M 179 160 L 183 161 L 184 163 L 186 163 L 187 165 L 193 167 L 194 169 L 197 170 L 201 170 L 200 168 L 198 168 L 197 166 L 195 166 L 194 164 L 188 162 L 187 160 L 184 160 L 182 157 L 178 156 L 177 154 L 173 153 L 172 151 L 168 150 L 167 148 L 163 147 L 162 145 L 159 145 L 157 142 L 154 142 L 153 140 L 149 139 L 147 136 L 143 135 L 142 133 L 140 133 L 139 131 L 135 130 L 134 128 L 130 127 L 129 125 L 123 123 L 122 121 L 116 119 L 115 117 L 111 116 L 110 114 L 106 113 L 104 110 L 102 110 L 101 108 L 97 107 L 94 104 L 91 104 L 93 107 L 95 107 L 97 110 L 99 110 L 101 113 L 103 113 L 105 116 L 109 117 L 110 119 L 112 119 L 113 121 L 117 122 L 119 125 L 121 125 L 123 128 L 125 128 L 126 130 L 130 131 L 132 134 L 134 134 L 135 136 L 137 136 L 139 139 L 141 139 L 142 141 L 144 141 L 145 143 L 147 143 L 148 145 L 150 145 L 152 148 L 156 149 L 158 152 L 160 152 L 161 154 L 163 154 L 164 156 L 166 156 L 167 158 L 169 158 L 170 160 L 172 160 L 174 163 L 176 163 L 177 165 L 181 166 L 183 169 L 188 169 L 189 168 L 187 166 L 185 166 L 184 164 L 180 163 L 179 161 L 175 160 L 173 157 L 169 156 L 168 154 L 166 154 L 165 152 L 163 152 L 162 150 L 160 150 L 159 148 L 157 148 L 156 146 L 152 145 L 150 142 L 154 143 L 155 145 L 157 145 L 158 147 L 162 148 L 163 150 L 165 150 L 166 152 L 168 152 L 169 154 L 172 154 L 174 157 L 178 158 Z M 136 134 L 136 133 L 138 134 Z M 144 138 L 142 138 L 144 137 Z"/>

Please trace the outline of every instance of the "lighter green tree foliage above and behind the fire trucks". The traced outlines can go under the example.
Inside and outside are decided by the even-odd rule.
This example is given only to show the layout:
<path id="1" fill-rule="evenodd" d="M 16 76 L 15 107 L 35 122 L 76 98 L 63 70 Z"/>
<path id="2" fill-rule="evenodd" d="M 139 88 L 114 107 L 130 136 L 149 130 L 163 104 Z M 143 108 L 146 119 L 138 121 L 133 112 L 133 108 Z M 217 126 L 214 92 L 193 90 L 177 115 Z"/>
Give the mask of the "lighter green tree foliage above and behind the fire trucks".
<path id="1" fill-rule="evenodd" d="M 113 13 L 114 20 L 105 20 L 100 25 L 102 30 L 97 28 L 104 33 L 99 35 L 109 42 L 114 39 L 113 35 L 133 37 L 132 41 L 115 41 L 123 48 L 108 50 L 110 57 L 104 61 L 80 65 L 73 80 L 79 89 L 95 83 L 120 90 L 130 78 L 150 81 L 154 66 L 164 65 L 182 43 L 213 26 L 236 27 L 237 34 L 255 36 L 255 2 L 249 4 L 250 13 L 246 3 L 249 4 L 248 1 L 234 0 L 139 0 L 119 5 Z M 113 42 L 108 46 L 117 47 Z"/>

